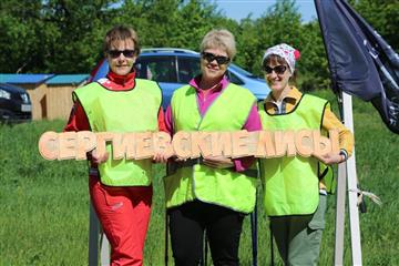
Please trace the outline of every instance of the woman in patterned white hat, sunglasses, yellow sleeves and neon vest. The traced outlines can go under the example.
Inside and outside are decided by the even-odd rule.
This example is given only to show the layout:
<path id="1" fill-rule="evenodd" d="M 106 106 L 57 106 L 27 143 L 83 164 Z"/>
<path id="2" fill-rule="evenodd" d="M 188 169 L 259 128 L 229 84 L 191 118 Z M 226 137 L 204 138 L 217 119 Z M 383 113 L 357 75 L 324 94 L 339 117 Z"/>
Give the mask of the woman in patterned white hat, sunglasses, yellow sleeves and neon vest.
<path id="1" fill-rule="evenodd" d="M 317 265 L 327 203 L 326 165 L 350 156 L 354 136 L 331 112 L 328 101 L 290 85 L 299 52 L 283 43 L 266 50 L 265 79 L 272 92 L 258 106 L 265 130 L 339 132 L 339 153 L 260 160 L 265 208 L 285 265 Z M 321 162 L 321 163 L 320 163 Z M 326 165 L 325 165 L 326 164 Z M 326 171 L 325 171 L 326 170 Z"/>

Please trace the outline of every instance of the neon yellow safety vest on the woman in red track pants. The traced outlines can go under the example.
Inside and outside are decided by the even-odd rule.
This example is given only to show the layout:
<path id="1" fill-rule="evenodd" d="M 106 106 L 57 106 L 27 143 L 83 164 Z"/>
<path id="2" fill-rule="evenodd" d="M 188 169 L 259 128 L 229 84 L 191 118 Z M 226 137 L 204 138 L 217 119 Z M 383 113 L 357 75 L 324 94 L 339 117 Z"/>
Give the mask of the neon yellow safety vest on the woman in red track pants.
<path id="1" fill-rule="evenodd" d="M 135 80 L 130 91 L 111 91 L 93 82 L 76 89 L 79 100 L 93 132 L 157 131 L 157 114 L 162 94 L 156 82 Z M 147 186 L 151 184 L 152 162 L 147 160 L 112 160 L 112 146 L 105 163 L 99 165 L 101 182 L 109 186 Z"/>

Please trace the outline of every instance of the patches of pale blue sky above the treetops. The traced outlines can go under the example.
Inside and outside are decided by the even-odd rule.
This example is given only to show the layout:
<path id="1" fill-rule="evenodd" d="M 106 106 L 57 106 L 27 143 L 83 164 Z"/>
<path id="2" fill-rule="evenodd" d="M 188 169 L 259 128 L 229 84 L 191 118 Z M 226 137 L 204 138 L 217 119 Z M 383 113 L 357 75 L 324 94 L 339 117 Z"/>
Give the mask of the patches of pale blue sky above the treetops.
<path id="1" fill-rule="evenodd" d="M 260 17 L 278 0 L 215 0 L 218 8 L 232 19 L 239 21 L 253 13 L 252 18 Z M 303 20 L 309 21 L 317 17 L 314 0 L 296 0 Z"/>

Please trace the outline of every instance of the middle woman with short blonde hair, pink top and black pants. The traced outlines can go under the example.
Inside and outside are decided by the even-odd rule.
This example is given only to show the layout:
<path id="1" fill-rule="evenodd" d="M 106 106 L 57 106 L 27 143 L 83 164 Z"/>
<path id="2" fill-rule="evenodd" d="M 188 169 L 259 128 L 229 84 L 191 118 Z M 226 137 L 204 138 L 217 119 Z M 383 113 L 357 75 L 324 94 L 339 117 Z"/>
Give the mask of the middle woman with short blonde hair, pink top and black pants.
<path id="1" fill-rule="evenodd" d="M 166 129 L 177 131 L 257 131 L 255 96 L 231 83 L 226 71 L 236 53 L 227 30 L 212 30 L 201 43 L 201 71 L 177 89 L 166 110 Z M 165 200 L 175 265 L 196 266 L 204 232 L 214 265 L 238 265 L 245 214 L 255 206 L 254 160 L 203 157 L 172 160 L 165 177 Z"/>

